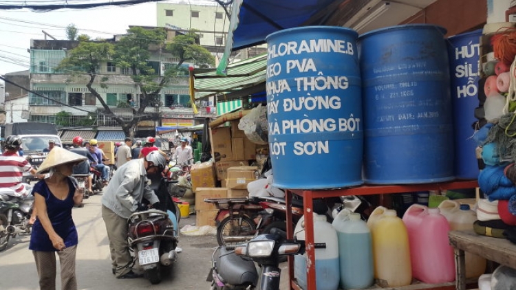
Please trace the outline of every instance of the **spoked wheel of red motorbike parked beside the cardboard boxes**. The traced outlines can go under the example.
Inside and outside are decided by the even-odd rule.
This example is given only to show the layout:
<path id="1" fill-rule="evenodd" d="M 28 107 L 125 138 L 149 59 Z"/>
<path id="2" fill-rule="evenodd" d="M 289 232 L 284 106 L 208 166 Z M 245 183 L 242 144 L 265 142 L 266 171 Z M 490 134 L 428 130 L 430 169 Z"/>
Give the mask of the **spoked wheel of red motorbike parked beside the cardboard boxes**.
<path id="1" fill-rule="evenodd" d="M 241 223 L 240 223 L 241 220 Z M 248 216 L 228 216 L 217 227 L 217 243 L 219 246 L 237 245 L 241 242 L 226 243 L 225 236 L 253 236 L 256 233 L 255 222 Z"/>

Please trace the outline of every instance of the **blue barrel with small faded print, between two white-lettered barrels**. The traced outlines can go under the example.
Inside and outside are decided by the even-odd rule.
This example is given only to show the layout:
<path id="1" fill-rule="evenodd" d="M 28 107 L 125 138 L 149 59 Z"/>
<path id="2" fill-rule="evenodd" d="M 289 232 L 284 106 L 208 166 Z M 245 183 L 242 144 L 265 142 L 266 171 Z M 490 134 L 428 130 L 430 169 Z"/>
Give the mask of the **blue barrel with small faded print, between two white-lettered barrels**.
<path id="1" fill-rule="evenodd" d="M 397 25 L 358 38 L 367 183 L 454 179 L 445 33 L 435 25 Z"/>

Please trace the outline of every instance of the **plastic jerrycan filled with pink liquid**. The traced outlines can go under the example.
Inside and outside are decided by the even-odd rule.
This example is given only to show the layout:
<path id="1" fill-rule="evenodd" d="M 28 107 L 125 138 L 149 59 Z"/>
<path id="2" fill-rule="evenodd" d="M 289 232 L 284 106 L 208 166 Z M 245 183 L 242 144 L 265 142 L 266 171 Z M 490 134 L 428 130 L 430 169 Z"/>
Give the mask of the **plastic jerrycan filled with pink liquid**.
<path id="1" fill-rule="evenodd" d="M 403 215 L 403 222 L 409 233 L 412 276 L 429 284 L 455 280 L 450 225 L 440 210 L 414 204 Z"/>

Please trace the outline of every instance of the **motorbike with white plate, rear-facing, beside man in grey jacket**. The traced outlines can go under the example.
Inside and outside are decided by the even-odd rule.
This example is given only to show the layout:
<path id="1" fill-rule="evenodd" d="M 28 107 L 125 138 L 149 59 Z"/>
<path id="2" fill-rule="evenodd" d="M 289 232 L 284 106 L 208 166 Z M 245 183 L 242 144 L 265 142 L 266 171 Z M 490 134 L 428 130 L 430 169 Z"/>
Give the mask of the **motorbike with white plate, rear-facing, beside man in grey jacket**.
<path id="1" fill-rule="evenodd" d="M 177 258 L 178 228 L 169 214 L 155 209 L 131 214 L 128 236 L 136 260 L 133 268 L 143 271 L 152 284 L 161 282 L 161 267 Z"/>

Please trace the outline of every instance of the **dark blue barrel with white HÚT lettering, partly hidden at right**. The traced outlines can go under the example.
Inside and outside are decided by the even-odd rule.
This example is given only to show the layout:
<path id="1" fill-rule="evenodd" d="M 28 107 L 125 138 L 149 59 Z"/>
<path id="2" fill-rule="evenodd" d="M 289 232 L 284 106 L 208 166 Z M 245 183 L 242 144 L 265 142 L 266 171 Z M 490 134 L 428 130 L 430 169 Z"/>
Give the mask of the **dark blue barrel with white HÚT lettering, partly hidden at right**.
<path id="1" fill-rule="evenodd" d="M 455 177 L 460 179 L 476 179 L 479 172 L 475 156 L 477 144 L 471 137 L 474 133 L 471 125 L 477 121 L 473 112 L 478 107 L 480 36 L 482 30 L 475 30 L 447 40 L 455 132 Z"/>

